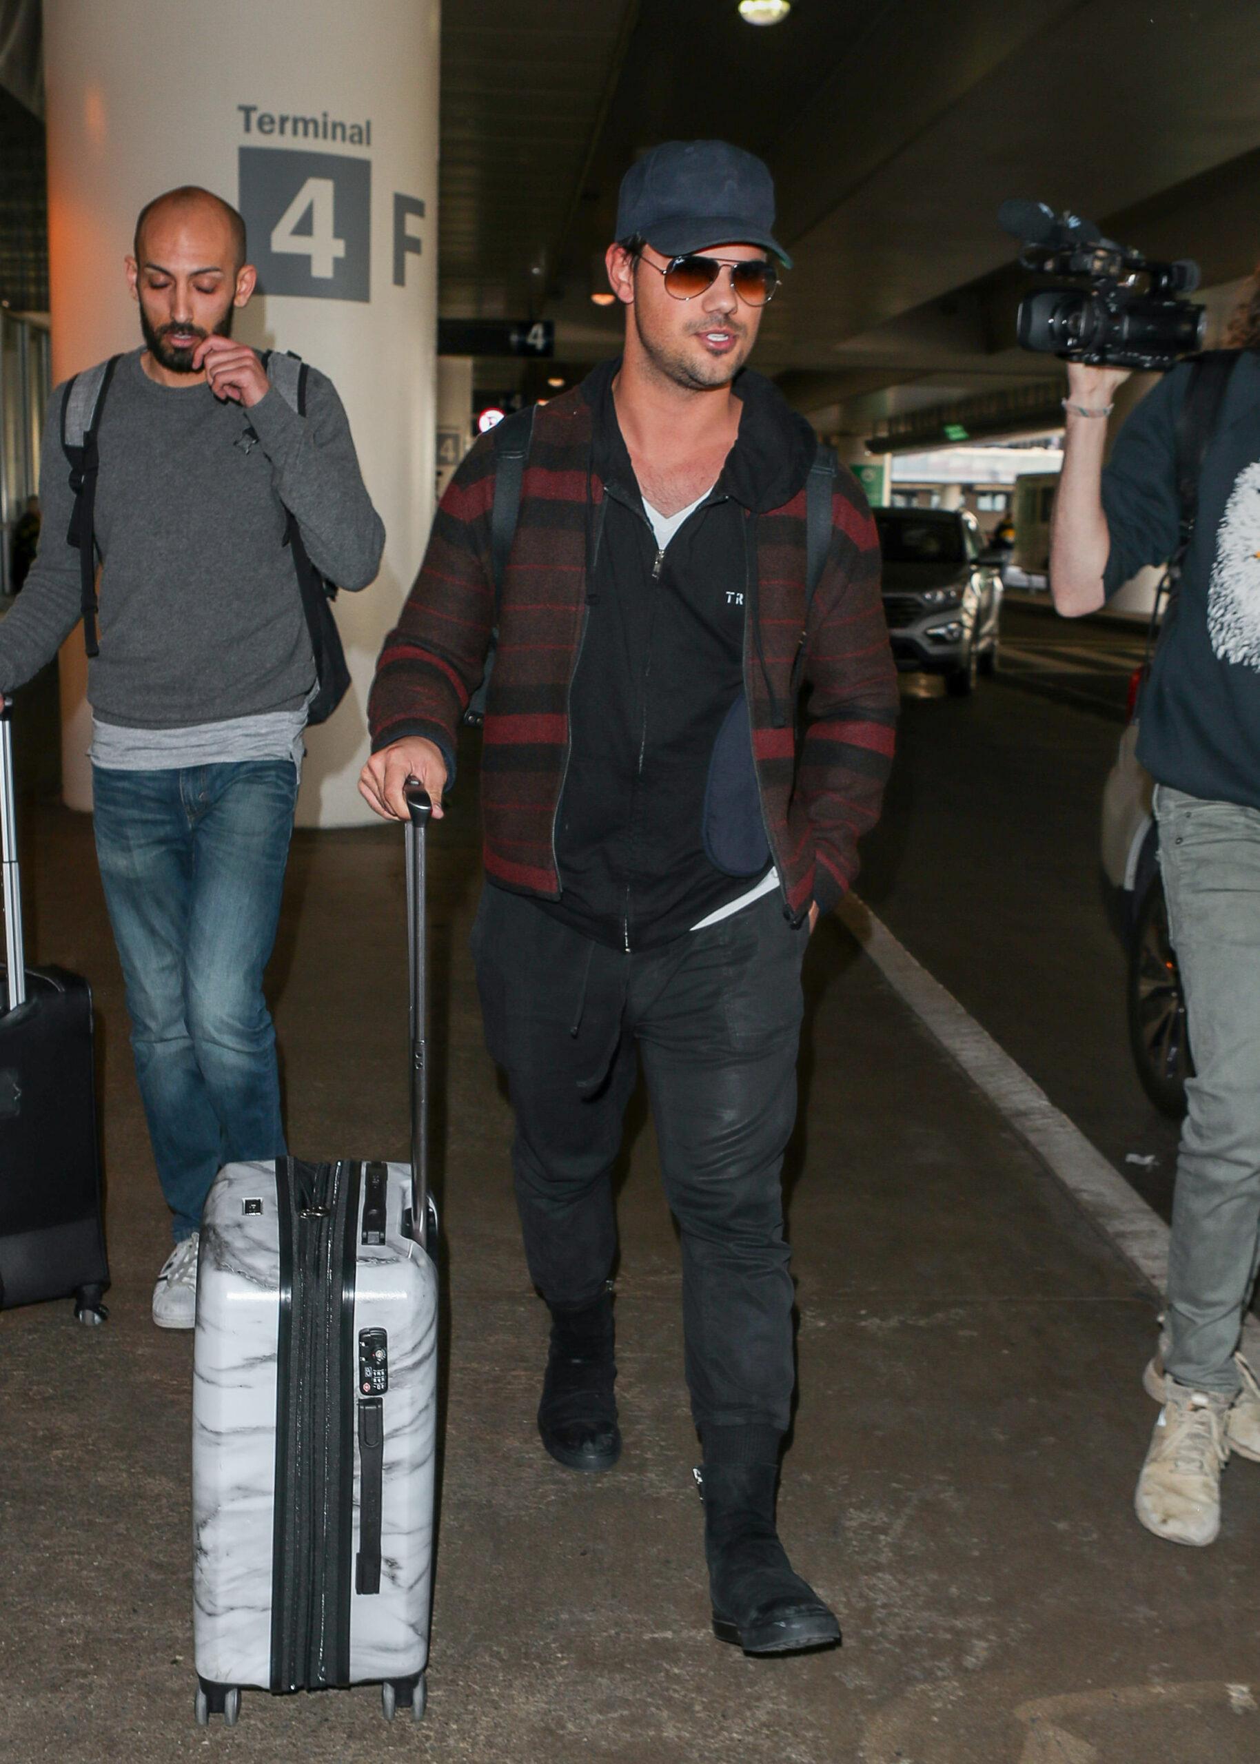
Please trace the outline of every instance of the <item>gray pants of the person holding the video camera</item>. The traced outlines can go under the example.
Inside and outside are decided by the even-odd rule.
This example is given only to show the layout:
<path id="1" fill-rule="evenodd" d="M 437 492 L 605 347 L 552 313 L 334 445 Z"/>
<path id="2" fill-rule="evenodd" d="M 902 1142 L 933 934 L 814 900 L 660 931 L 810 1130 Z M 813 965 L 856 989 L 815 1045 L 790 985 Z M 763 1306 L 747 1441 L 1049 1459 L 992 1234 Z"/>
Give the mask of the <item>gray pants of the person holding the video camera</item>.
<path id="1" fill-rule="evenodd" d="M 1195 1076 L 1177 1157 L 1165 1364 L 1235 1394 L 1260 1242 L 1260 810 L 1156 787 Z"/>

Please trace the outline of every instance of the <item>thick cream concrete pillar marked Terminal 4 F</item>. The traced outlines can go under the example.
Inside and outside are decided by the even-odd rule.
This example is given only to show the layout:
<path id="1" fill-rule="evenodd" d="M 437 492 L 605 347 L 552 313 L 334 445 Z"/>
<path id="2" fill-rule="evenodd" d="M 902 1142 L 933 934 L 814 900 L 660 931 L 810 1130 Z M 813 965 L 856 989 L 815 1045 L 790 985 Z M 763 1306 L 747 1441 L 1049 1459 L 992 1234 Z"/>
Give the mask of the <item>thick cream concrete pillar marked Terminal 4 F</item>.
<path id="1" fill-rule="evenodd" d="M 371 14 L 44 0 L 53 377 L 139 344 L 124 279 L 136 213 L 201 183 L 244 212 L 261 270 L 236 335 L 334 379 L 385 520 L 379 579 L 337 602 L 353 686 L 309 732 L 304 826 L 372 818 L 355 789 L 367 688 L 432 519 L 439 4 L 372 0 Z M 67 803 L 90 808 L 81 653 L 74 633 L 64 778 Z"/>

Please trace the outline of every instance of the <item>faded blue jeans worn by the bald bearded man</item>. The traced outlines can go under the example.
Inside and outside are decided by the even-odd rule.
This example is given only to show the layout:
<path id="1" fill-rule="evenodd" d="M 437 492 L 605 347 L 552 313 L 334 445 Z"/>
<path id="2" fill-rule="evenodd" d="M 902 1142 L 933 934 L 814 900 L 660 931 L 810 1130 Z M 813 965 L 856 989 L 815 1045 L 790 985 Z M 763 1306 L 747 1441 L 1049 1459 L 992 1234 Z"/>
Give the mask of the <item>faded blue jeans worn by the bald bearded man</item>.
<path id="1" fill-rule="evenodd" d="M 296 785 L 289 760 L 92 769 L 136 1078 L 176 1242 L 201 1224 L 222 1164 L 286 1150 L 263 970 Z"/>

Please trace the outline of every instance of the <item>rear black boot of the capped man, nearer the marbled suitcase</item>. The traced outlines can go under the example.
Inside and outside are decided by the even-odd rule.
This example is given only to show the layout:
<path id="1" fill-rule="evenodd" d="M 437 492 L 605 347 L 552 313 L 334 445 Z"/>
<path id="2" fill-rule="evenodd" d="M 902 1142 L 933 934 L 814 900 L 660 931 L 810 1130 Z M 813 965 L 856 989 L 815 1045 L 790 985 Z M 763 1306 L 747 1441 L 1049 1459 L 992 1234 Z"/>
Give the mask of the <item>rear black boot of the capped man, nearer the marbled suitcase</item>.
<path id="1" fill-rule="evenodd" d="M 566 1469 L 612 1469 L 621 1457 L 616 1376 L 612 1293 L 582 1311 L 552 1309 L 538 1432 Z"/>

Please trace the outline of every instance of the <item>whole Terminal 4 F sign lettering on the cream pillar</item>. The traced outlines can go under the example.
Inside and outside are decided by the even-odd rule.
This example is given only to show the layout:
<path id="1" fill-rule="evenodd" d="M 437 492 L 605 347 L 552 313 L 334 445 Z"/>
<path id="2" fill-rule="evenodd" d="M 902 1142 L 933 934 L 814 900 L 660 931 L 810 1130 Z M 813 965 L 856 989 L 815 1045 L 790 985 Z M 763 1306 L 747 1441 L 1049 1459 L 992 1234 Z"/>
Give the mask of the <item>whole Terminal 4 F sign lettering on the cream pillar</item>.
<path id="1" fill-rule="evenodd" d="M 291 116 L 238 104 L 245 134 L 288 141 L 372 145 L 371 120 L 346 123 Z M 307 300 L 372 298 L 372 162 L 355 153 L 312 152 L 307 146 L 242 146 L 238 208 L 249 233 L 251 263 L 263 295 Z M 406 288 L 408 258 L 424 245 L 415 222 L 424 219 L 418 196 L 394 196 L 394 284 Z"/>

